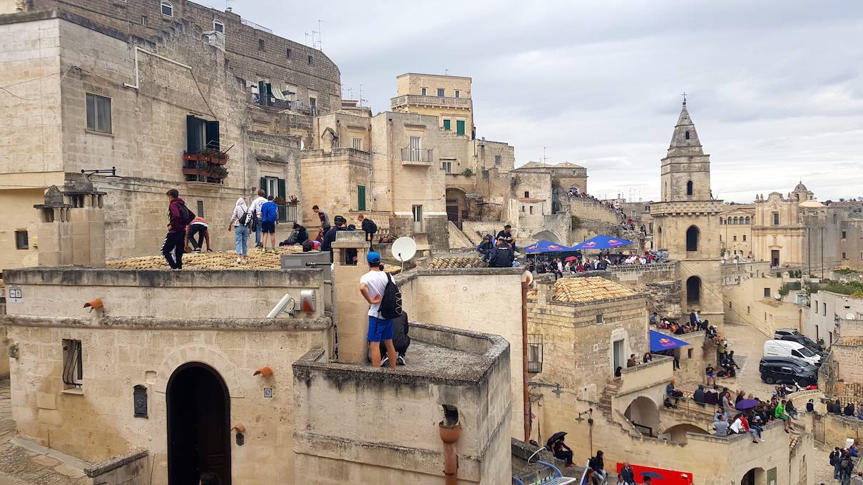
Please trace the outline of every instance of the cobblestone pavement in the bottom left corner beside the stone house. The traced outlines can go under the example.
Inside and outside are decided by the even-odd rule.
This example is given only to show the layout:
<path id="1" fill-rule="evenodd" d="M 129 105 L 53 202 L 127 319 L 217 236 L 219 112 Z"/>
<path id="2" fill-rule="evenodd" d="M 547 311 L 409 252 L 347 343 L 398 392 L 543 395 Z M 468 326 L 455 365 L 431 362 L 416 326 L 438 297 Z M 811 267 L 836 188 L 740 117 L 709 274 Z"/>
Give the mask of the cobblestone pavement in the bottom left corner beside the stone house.
<path id="1" fill-rule="evenodd" d="M 0 485 L 80 485 L 88 479 L 57 458 L 25 450 L 15 438 L 9 380 L 0 381 Z"/>

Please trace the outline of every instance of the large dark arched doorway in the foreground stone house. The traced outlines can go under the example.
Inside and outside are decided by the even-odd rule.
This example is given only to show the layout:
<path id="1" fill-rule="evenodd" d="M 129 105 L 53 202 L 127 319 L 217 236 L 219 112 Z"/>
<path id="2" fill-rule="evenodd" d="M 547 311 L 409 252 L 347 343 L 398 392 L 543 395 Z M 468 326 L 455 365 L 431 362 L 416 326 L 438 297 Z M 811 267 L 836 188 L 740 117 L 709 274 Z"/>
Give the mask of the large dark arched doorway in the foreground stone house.
<path id="1" fill-rule="evenodd" d="M 230 396 L 222 376 L 199 362 L 167 381 L 168 485 L 198 483 L 205 471 L 230 485 Z"/>

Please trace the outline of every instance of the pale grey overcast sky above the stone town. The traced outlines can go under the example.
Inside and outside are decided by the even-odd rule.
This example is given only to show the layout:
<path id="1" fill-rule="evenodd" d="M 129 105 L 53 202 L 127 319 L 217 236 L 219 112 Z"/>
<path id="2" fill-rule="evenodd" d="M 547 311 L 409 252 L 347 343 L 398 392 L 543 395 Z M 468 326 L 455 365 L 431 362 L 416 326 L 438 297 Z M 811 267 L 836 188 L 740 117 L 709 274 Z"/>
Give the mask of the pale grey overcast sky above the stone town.
<path id="1" fill-rule="evenodd" d="M 549 147 L 588 167 L 595 195 L 658 198 L 685 91 L 717 197 L 798 180 L 820 200 L 863 196 L 860 1 L 228 4 L 302 43 L 324 21 L 344 97 L 362 85 L 374 113 L 403 72 L 472 77 L 477 136 L 513 145 L 517 166 Z"/>

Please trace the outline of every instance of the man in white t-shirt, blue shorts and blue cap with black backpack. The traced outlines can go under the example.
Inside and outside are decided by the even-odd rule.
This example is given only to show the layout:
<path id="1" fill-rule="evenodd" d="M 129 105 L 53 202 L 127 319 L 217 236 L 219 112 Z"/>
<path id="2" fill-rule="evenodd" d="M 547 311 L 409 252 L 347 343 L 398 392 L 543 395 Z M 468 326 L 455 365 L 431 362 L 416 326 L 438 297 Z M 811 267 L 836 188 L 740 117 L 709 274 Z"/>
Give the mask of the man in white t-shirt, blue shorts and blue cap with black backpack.
<path id="1" fill-rule="evenodd" d="M 395 368 L 396 355 L 393 346 L 393 320 L 381 318 L 381 299 L 387 288 L 389 277 L 381 270 L 381 255 L 370 252 L 366 256 L 369 263 L 369 273 L 360 278 L 360 293 L 369 302 L 369 354 L 372 366 L 381 367 L 381 342 L 387 347 L 389 367 Z"/>

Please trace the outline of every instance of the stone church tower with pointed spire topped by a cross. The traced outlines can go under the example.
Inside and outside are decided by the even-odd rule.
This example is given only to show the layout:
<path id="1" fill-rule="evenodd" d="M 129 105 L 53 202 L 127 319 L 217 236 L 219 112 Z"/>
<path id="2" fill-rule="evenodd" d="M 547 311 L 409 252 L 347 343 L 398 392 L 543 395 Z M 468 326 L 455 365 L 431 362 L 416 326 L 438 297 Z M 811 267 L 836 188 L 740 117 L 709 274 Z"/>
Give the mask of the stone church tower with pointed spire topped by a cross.
<path id="1" fill-rule="evenodd" d="M 722 201 L 710 189 L 710 155 L 704 154 L 686 101 L 677 118 L 668 154 L 662 159 L 662 199 L 651 205 L 656 247 L 679 261 L 683 313 L 702 312 L 722 324 L 719 214 Z"/>

